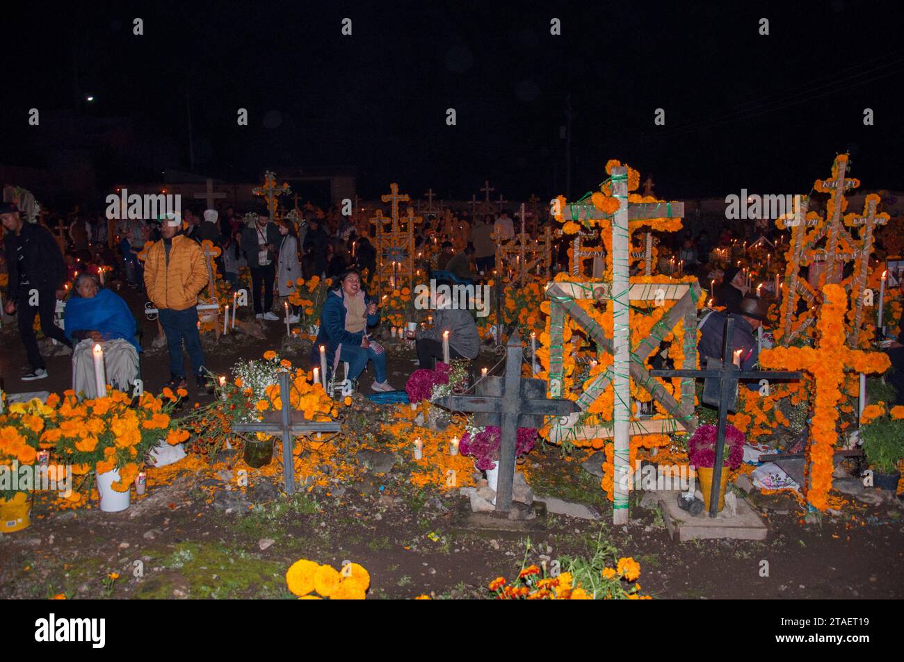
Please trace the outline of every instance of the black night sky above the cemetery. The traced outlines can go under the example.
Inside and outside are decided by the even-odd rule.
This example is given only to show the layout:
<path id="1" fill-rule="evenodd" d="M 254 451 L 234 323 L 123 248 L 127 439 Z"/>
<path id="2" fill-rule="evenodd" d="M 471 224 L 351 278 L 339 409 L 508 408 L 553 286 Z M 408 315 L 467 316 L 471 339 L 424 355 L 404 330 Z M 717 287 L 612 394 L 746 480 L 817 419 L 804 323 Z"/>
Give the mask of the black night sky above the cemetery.
<path id="1" fill-rule="evenodd" d="M 197 172 L 348 165 L 364 196 L 397 181 L 470 198 L 489 178 L 548 198 L 565 189 L 570 94 L 572 197 L 608 158 L 664 197 L 805 192 L 845 150 L 863 188 L 904 188 L 901 2 L 53 6 L 5 7 L 0 163 L 29 164 L 39 107 L 129 117 L 187 170 L 188 95 Z"/>

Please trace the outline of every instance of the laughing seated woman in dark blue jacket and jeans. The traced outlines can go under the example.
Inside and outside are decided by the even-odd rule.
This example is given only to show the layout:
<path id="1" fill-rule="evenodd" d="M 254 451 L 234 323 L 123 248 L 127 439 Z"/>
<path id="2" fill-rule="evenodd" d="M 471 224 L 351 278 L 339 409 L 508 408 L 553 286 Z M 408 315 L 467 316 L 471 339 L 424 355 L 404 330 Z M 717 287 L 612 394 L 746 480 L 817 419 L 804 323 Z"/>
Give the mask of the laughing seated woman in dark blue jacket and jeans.
<path id="1" fill-rule="evenodd" d="M 320 346 L 326 348 L 326 366 L 334 371 L 339 361 L 348 363 L 347 378 L 356 381 L 368 361 L 373 361 L 374 391 L 395 390 L 386 382 L 386 352 L 368 340 L 368 326 L 380 322 L 377 303 L 361 288 L 361 273 L 348 269 L 334 282 L 338 287 L 326 295 L 320 313 L 320 331 L 311 348 L 312 365 L 320 365 Z"/>

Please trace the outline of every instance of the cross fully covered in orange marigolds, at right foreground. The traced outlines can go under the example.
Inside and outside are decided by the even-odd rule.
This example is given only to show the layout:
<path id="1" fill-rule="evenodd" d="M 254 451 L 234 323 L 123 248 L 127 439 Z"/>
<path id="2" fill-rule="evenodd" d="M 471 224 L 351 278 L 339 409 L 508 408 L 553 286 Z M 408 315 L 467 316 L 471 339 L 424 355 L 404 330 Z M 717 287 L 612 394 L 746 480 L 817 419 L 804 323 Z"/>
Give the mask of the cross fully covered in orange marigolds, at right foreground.
<path id="1" fill-rule="evenodd" d="M 759 365 L 765 368 L 797 368 L 806 370 L 814 376 L 814 401 L 817 406 L 810 424 L 811 430 L 835 429 L 838 415 L 835 406 L 842 397 L 839 385 L 843 384 L 845 370 L 862 373 L 884 372 L 890 366 L 890 360 L 884 354 L 880 354 L 884 361 L 874 363 L 872 359 L 877 352 L 852 350 L 845 346 L 844 325 L 840 323 L 843 322 L 847 310 L 847 295 L 844 288 L 839 284 L 826 284 L 823 294 L 824 302 L 819 311 L 819 321 L 816 322 L 817 342 L 814 347 L 777 347 L 764 350 L 759 355 Z M 831 359 L 827 360 L 827 356 Z M 819 375 L 818 379 L 815 378 L 816 374 Z M 827 462 L 831 467 L 833 443 L 827 446 L 819 443 L 819 440 L 815 444 L 809 443 L 807 445 L 809 463 L 824 463 L 828 457 Z M 822 489 L 826 486 L 819 487 Z M 807 500 L 812 505 L 820 509 L 825 507 L 824 494 L 817 493 L 811 497 L 809 486 L 804 485 L 804 490 Z"/>

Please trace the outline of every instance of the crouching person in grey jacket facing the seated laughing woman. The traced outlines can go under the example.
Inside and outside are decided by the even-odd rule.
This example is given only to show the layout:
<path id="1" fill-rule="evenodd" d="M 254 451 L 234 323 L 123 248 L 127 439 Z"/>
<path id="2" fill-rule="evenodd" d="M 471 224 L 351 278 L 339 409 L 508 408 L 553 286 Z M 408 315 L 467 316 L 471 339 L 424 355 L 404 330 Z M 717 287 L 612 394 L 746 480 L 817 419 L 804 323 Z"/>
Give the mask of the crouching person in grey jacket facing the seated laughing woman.
<path id="1" fill-rule="evenodd" d="M 415 331 L 415 348 L 420 368 L 436 369 L 437 360 L 443 358 L 443 332 L 448 331 L 449 359 L 474 360 L 480 353 L 480 334 L 474 317 L 466 308 L 452 305 L 448 283 L 437 284 L 437 312 L 433 328 Z M 409 333 L 409 338 L 412 334 Z"/>

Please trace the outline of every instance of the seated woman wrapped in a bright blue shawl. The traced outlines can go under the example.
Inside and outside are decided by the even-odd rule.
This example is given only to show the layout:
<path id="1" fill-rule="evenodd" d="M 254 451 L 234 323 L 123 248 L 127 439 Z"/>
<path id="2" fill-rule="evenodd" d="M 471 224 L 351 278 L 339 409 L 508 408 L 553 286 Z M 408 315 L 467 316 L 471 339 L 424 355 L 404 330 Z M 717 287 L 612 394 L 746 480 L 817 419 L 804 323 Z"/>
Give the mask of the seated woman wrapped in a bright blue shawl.
<path id="1" fill-rule="evenodd" d="M 102 289 L 98 279 L 80 274 L 66 303 L 66 337 L 75 344 L 72 350 L 72 389 L 85 397 L 97 397 L 94 381 L 94 345 L 104 351 L 107 383 L 121 391 L 132 387 L 138 374 L 136 323 L 132 312 L 118 294 Z"/>

